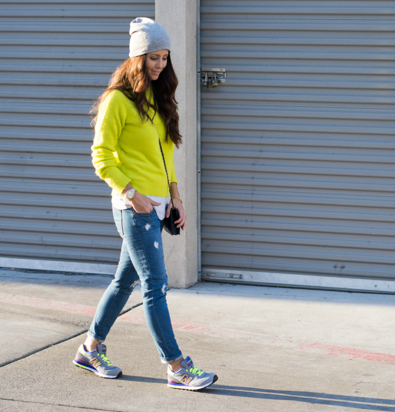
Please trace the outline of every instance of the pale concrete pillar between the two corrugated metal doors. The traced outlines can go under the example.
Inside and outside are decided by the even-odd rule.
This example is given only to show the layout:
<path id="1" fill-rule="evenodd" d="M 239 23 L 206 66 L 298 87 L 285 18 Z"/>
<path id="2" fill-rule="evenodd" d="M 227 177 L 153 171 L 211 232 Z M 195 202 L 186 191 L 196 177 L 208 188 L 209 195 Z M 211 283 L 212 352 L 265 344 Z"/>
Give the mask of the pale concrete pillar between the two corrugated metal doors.
<path id="1" fill-rule="evenodd" d="M 178 190 L 188 217 L 180 236 L 163 231 L 169 286 L 186 288 L 197 282 L 197 90 L 196 0 L 156 0 L 155 20 L 171 42 L 171 62 L 178 78 L 176 100 L 184 143 L 175 150 Z"/>

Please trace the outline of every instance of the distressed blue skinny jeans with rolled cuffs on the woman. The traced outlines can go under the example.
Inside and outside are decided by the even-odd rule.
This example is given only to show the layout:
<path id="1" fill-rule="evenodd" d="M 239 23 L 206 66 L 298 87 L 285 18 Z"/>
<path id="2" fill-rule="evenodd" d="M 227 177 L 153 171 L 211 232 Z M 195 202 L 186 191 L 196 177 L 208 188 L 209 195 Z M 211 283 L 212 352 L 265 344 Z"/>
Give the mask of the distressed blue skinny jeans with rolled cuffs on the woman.
<path id="1" fill-rule="evenodd" d="M 113 207 L 113 215 L 123 239 L 118 269 L 99 302 L 88 335 L 104 342 L 140 279 L 145 319 L 161 362 L 166 364 L 182 359 L 166 302 L 163 221 L 158 219 L 154 209 L 150 213 L 137 213 L 133 208 L 119 210 Z"/>

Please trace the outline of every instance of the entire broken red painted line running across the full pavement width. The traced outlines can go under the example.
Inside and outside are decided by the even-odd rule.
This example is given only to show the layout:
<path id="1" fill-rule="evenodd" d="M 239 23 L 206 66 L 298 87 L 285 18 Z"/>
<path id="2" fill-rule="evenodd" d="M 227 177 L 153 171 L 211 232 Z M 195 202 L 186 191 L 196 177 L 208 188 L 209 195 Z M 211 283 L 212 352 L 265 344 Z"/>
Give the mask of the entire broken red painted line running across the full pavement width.
<path id="1" fill-rule="evenodd" d="M 57 311 L 65 311 L 71 313 L 78 313 L 83 315 L 93 316 L 96 312 L 96 308 L 93 306 L 70 304 L 66 302 L 53 301 L 49 299 L 33 298 L 29 296 L 20 295 L 10 295 L 6 293 L 0 293 L 0 302 L 15 303 L 24 306 L 33 306 L 42 309 L 52 309 Z M 122 315 L 118 320 L 128 321 L 132 323 L 145 324 L 146 320 L 144 318 L 134 316 L 130 312 Z M 182 322 L 178 320 L 173 320 L 171 322 L 173 329 L 184 330 L 186 332 L 193 332 L 204 334 L 214 337 L 222 338 L 234 338 L 238 340 L 244 340 L 249 342 L 260 342 L 268 344 L 279 343 L 281 346 L 286 344 L 290 348 L 295 348 L 301 351 L 316 351 L 319 353 L 324 353 L 327 355 L 334 356 L 348 356 L 349 358 L 359 358 L 365 359 L 367 361 L 385 363 L 390 365 L 395 365 L 395 355 L 379 353 L 379 352 L 369 352 L 361 349 L 345 348 L 342 346 L 325 345 L 321 343 L 303 343 L 295 344 L 286 339 L 275 338 L 273 336 L 263 335 L 259 333 L 244 332 L 235 329 L 226 329 L 216 326 L 201 325 L 197 323 Z"/>

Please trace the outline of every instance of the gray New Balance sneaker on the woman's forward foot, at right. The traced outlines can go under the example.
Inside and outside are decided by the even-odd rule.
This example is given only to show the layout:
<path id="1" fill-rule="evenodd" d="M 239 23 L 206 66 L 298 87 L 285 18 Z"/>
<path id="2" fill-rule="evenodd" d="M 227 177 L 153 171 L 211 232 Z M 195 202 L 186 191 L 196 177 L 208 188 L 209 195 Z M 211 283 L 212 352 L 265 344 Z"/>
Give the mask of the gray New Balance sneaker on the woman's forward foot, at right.
<path id="1" fill-rule="evenodd" d="M 178 372 L 173 372 L 170 366 L 167 366 L 167 386 L 170 388 L 197 391 L 218 380 L 215 373 L 206 373 L 194 366 L 189 356 L 181 362 L 181 366 L 182 368 Z"/>

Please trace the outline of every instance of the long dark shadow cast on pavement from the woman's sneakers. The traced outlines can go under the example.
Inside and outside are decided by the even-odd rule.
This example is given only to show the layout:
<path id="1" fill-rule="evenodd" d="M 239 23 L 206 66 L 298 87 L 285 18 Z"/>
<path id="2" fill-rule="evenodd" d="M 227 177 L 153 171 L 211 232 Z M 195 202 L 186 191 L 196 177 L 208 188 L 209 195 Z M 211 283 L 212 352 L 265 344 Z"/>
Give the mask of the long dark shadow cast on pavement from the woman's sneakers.
<path id="1" fill-rule="evenodd" d="M 132 382 L 167 383 L 166 379 L 150 378 L 146 376 L 122 375 L 118 379 Z M 211 394 L 271 399 L 277 401 L 307 402 L 311 404 L 365 409 L 371 411 L 394 411 L 394 400 L 392 399 L 364 398 L 358 396 L 333 395 L 318 392 L 276 391 L 245 386 L 218 385 L 215 383 L 207 389 L 201 389 L 198 393 L 204 393 L 207 395 Z"/>

